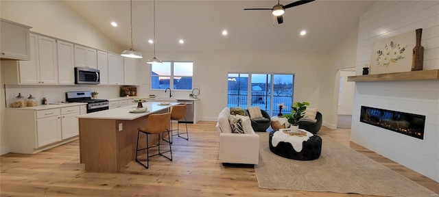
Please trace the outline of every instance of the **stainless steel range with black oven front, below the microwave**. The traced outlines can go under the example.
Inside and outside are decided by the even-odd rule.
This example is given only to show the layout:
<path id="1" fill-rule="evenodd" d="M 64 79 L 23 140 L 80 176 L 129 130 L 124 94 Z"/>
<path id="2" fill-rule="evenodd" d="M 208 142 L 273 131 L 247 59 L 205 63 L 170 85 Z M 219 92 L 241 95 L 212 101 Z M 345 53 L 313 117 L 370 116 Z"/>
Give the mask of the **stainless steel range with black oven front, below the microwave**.
<path id="1" fill-rule="evenodd" d="M 91 99 L 91 91 L 66 92 L 66 101 L 87 103 L 87 113 L 108 109 L 108 100 Z"/>

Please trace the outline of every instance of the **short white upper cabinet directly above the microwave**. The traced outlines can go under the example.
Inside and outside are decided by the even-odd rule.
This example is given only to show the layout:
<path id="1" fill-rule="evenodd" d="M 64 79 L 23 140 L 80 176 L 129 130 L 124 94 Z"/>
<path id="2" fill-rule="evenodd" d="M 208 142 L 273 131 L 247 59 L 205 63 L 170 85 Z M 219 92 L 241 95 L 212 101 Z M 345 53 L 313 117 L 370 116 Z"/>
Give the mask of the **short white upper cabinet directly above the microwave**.
<path id="1" fill-rule="evenodd" d="M 97 68 L 97 51 L 75 44 L 75 66 L 84 68 Z"/>

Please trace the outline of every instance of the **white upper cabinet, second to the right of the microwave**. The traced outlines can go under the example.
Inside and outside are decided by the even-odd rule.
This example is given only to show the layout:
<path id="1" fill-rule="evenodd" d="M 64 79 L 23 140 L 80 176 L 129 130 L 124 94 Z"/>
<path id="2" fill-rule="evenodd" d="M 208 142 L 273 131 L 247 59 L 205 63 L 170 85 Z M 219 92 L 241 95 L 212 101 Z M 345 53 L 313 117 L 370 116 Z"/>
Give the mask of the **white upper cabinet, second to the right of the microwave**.
<path id="1" fill-rule="evenodd" d="M 123 57 L 108 53 L 108 84 L 123 85 Z"/>

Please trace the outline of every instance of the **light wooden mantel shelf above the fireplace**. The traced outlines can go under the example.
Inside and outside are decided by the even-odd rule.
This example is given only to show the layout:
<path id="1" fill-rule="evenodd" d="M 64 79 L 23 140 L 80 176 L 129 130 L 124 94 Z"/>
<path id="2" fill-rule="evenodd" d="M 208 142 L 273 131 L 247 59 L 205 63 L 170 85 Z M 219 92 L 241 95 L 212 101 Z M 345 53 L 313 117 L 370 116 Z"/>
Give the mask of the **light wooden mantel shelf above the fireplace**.
<path id="1" fill-rule="evenodd" d="M 357 75 L 348 77 L 348 81 L 412 81 L 412 80 L 438 80 L 439 69 L 416 70 L 401 73 L 384 73 L 376 75 Z"/>

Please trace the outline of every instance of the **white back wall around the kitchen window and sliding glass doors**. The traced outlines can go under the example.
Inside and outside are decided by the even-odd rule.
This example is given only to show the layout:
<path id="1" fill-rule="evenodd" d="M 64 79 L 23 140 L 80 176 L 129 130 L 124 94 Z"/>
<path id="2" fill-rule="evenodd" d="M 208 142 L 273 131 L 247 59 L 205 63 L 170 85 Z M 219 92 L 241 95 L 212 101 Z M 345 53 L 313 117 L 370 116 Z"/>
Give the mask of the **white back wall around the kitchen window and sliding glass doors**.
<path id="1" fill-rule="evenodd" d="M 152 56 L 145 51 L 141 53 L 144 57 Z M 200 88 L 199 98 L 202 110 L 198 119 L 212 121 L 216 121 L 219 111 L 227 106 L 228 72 L 294 73 L 296 74 L 294 101 L 309 101 L 311 107 L 320 107 L 320 70 L 328 62 L 327 55 L 306 53 L 165 53 L 157 51 L 156 55 L 158 59 L 164 61 L 193 61 L 193 86 Z M 150 73 L 145 77 L 149 80 Z M 141 91 L 149 90 L 143 88 Z M 142 94 L 145 93 L 142 92 Z M 164 91 L 158 94 L 165 95 Z M 189 93 L 185 92 L 185 94 Z"/>

